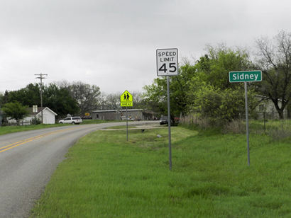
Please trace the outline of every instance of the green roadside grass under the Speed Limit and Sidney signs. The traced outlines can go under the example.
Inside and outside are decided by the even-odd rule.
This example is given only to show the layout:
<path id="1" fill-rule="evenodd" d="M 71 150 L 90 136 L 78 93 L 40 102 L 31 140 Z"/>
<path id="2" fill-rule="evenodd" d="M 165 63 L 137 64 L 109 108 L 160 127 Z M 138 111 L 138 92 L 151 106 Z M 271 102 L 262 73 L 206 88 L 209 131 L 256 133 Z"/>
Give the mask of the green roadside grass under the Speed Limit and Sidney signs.
<path id="1" fill-rule="evenodd" d="M 160 134 L 162 137 L 157 137 Z M 97 131 L 58 166 L 31 217 L 291 217 L 291 142 L 172 127 Z"/>

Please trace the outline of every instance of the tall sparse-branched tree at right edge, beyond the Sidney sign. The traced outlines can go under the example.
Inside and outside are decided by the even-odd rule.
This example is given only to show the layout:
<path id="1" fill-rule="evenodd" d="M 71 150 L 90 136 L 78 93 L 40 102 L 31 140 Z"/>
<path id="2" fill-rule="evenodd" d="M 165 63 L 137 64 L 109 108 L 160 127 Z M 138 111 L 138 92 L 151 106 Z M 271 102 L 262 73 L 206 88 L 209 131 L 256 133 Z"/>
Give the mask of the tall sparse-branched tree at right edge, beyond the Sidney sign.
<path id="1" fill-rule="evenodd" d="M 260 92 L 274 103 L 280 119 L 291 98 L 291 33 L 281 31 L 273 40 L 256 40 L 258 67 L 263 71 Z"/>

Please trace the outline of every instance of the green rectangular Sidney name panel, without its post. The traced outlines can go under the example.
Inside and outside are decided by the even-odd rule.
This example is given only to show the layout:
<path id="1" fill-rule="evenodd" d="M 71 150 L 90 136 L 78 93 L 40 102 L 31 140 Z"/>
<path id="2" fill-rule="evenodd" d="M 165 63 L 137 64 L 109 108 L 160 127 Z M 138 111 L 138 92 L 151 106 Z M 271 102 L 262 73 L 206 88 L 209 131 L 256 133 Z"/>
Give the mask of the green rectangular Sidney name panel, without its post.
<path id="1" fill-rule="evenodd" d="M 238 83 L 245 81 L 262 81 L 262 71 L 231 71 L 229 72 L 229 82 Z"/>

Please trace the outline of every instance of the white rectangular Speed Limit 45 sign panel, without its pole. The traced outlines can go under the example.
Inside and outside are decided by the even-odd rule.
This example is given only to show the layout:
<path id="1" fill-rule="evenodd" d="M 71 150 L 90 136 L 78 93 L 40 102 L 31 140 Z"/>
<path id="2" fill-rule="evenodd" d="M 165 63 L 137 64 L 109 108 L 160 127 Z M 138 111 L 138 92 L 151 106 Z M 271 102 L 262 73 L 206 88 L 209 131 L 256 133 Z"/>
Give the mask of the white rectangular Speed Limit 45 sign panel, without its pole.
<path id="1" fill-rule="evenodd" d="M 178 74 L 177 48 L 157 50 L 158 76 L 176 76 Z"/>

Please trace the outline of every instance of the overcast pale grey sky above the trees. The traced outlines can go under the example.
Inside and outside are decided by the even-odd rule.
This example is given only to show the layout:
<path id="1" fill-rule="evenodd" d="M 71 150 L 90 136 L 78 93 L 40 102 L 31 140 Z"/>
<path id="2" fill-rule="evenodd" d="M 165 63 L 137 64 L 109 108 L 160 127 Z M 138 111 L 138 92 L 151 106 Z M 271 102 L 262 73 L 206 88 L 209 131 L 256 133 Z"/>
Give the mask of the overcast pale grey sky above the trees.
<path id="1" fill-rule="evenodd" d="M 83 81 L 104 93 L 142 91 L 155 50 L 198 59 L 207 44 L 253 50 L 291 31 L 290 0 L 0 0 L 0 91 Z"/>

